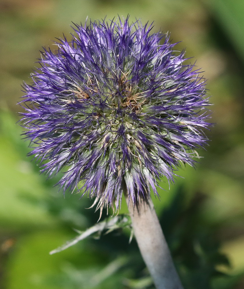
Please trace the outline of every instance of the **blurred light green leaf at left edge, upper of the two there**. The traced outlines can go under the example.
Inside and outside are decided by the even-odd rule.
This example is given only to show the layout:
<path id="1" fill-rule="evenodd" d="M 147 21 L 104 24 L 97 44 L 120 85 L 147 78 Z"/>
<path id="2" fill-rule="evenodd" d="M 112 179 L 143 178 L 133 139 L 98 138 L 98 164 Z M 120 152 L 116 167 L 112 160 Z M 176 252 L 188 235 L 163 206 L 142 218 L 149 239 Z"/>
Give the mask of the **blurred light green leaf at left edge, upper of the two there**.
<path id="1" fill-rule="evenodd" d="M 45 180 L 26 157 L 21 129 L 8 112 L 0 116 L 0 225 L 8 230 L 54 225 L 55 219 L 38 204 L 46 194 Z"/>

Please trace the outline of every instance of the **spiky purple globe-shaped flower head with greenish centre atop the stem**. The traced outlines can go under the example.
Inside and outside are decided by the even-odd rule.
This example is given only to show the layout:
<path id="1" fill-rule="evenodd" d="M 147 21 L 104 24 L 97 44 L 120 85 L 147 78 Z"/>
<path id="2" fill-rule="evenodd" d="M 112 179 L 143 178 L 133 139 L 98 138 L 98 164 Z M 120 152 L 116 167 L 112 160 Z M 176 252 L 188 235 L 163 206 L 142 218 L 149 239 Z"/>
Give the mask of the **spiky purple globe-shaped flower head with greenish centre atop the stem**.
<path id="1" fill-rule="evenodd" d="M 166 34 L 128 18 L 75 25 L 72 40 L 44 49 L 33 85 L 24 85 L 25 135 L 59 185 L 83 188 L 98 206 L 118 208 L 157 194 L 157 180 L 194 164 L 206 142 L 205 81 Z"/>

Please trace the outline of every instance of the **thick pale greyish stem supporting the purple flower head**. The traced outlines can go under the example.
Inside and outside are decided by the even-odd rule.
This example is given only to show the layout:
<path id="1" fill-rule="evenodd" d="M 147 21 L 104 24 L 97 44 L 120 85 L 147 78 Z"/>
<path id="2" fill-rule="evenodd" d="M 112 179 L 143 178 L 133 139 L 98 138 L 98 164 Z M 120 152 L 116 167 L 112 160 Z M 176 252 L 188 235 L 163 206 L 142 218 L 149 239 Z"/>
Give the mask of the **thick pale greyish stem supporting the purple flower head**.
<path id="1" fill-rule="evenodd" d="M 135 238 L 157 289 L 183 289 L 152 200 L 128 204 Z"/>

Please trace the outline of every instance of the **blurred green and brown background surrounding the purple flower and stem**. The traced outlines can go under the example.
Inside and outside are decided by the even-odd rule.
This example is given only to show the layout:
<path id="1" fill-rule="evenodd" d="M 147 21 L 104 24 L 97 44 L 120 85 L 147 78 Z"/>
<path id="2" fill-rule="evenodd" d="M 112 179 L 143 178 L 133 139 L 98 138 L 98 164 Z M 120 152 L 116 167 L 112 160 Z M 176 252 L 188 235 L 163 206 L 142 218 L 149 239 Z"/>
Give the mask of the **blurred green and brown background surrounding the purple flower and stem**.
<path id="1" fill-rule="evenodd" d="M 0 1 L 0 288 L 154 288 L 129 232 L 84 240 L 73 229 L 96 223 L 92 201 L 66 197 L 26 157 L 28 142 L 16 125 L 22 81 L 42 46 L 68 35 L 86 17 L 117 15 L 153 31 L 169 31 L 197 61 L 212 95 L 211 139 L 197 168 L 187 166 L 169 190 L 162 180 L 154 200 L 186 289 L 244 288 L 244 1 L 243 0 L 1 0 Z M 126 205 L 121 212 L 126 212 Z"/>

